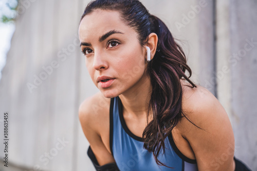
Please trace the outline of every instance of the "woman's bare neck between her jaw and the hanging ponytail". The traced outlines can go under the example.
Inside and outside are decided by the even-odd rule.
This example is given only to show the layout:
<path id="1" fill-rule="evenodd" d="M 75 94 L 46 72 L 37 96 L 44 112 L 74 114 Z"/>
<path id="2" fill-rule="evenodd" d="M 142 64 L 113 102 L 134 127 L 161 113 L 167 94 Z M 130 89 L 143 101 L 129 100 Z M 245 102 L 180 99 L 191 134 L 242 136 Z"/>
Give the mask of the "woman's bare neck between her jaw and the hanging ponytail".
<path id="1" fill-rule="evenodd" d="M 146 118 L 152 93 L 150 76 L 143 76 L 135 86 L 119 95 L 123 105 L 123 115 L 134 118 Z"/>

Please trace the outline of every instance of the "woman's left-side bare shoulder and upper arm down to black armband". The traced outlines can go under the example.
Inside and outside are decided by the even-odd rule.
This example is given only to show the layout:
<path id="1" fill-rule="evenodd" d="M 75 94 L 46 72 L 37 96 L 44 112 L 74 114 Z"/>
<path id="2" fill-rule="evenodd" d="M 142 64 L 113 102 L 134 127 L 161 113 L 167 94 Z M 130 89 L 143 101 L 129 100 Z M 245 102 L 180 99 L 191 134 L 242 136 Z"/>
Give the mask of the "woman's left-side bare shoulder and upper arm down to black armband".
<path id="1" fill-rule="evenodd" d="M 79 108 L 82 130 L 99 165 L 115 162 L 109 149 L 109 104 L 101 92 L 86 98 Z"/>

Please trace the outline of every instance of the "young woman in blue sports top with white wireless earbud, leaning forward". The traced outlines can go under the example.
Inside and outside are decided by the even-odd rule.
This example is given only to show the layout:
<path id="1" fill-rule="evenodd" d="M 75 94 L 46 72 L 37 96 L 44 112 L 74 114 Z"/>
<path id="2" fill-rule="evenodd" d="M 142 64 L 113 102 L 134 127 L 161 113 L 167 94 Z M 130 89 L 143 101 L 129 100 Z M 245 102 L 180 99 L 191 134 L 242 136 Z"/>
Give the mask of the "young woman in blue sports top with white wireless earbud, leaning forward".
<path id="1" fill-rule="evenodd" d="M 189 79 L 182 49 L 139 1 L 89 3 L 79 38 L 100 90 L 79 110 L 90 143 L 87 154 L 97 170 L 232 171 L 239 166 L 223 106 Z"/>

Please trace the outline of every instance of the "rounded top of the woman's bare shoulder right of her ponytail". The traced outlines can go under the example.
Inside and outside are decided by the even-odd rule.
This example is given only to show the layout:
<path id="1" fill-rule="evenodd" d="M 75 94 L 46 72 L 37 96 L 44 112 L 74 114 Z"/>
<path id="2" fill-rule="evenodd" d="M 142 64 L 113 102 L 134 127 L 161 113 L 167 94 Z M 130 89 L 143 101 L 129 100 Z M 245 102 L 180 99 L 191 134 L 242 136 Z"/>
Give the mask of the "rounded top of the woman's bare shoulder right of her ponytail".
<path id="1" fill-rule="evenodd" d="M 193 123 L 197 123 L 199 127 L 205 129 L 208 129 L 210 124 L 213 126 L 221 124 L 230 126 L 225 109 L 209 90 L 201 86 L 197 86 L 197 88 L 183 86 L 182 89 L 182 111 Z M 186 118 L 183 118 L 182 122 L 188 123 L 188 120 L 186 120 Z M 192 124 L 189 125 L 192 126 Z"/>

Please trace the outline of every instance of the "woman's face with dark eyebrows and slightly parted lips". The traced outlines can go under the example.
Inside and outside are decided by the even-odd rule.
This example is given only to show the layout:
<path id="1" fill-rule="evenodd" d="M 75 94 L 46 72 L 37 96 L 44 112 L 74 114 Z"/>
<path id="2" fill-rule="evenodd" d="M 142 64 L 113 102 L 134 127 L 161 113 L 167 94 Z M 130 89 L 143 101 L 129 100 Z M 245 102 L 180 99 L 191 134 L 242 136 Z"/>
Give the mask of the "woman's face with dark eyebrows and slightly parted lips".
<path id="1" fill-rule="evenodd" d="M 135 92 L 143 84 L 146 49 L 140 46 L 136 31 L 121 21 L 119 12 L 96 10 L 86 15 L 79 38 L 88 73 L 106 98 Z M 111 80 L 101 81 L 104 76 Z"/>

